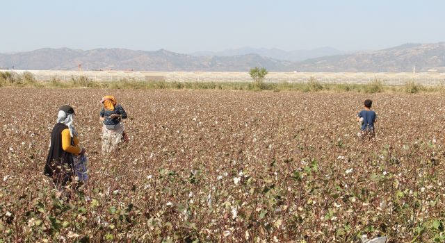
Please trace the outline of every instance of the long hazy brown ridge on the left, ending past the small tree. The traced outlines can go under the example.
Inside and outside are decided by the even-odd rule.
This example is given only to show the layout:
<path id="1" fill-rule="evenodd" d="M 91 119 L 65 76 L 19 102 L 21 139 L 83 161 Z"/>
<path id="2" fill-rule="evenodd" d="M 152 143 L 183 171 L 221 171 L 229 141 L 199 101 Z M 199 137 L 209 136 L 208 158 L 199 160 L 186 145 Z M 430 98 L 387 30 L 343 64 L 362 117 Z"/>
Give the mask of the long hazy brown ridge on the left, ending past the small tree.
<path id="1" fill-rule="evenodd" d="M 127 49 L 38 49 L 35 51 L 0 54 L 0 66 L 15 69 L 76 70 L 133 69 L 139 71 L 215 71 L 248 72 L 252 67 L 284 71 L 289 62 L 261 57 L 257 54 L 240 56 L 196 57 L 170 51 L 132 51 Z"/>

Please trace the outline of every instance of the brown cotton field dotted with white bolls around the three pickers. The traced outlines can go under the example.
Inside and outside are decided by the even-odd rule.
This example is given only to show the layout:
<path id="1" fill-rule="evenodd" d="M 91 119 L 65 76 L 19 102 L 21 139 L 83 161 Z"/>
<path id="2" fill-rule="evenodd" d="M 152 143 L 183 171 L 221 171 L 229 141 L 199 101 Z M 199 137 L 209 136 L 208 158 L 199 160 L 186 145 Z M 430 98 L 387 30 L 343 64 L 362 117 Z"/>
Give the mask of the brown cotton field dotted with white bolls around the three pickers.
<path id="1" fill-rule="evenodd" d="M 131 141 L 104 158 L 106 94 L 127 110 Z M 0 96 L 5 242 L 443 240 L 442 94 L 1 88 Z M 368 98 L 377 133 L 363 143 L 355 114 Z M 69 202 L 54 198 L 42 174 L 65 103 L 90 160 L 90 183 Z"/>

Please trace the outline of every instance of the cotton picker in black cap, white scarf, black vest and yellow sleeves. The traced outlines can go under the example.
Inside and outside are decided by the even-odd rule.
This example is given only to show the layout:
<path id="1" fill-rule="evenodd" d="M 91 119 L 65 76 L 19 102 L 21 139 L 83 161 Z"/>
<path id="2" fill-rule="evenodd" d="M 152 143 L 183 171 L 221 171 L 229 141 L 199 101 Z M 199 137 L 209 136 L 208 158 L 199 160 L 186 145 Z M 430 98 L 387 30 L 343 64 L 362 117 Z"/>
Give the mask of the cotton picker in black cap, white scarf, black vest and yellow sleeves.
<path id="1" fill-rule="evenodd" d="M 71 106 L 59 108 L 44 166 L 44 174 L 52 178 L 60 195 L 65 193 L 65 187 L 72 181 L 73 176 L 76 176 L 80 183 L 88 181 L 86 149 L 79 146 L 79 137 L 73 124 L 75 115 Z"/>

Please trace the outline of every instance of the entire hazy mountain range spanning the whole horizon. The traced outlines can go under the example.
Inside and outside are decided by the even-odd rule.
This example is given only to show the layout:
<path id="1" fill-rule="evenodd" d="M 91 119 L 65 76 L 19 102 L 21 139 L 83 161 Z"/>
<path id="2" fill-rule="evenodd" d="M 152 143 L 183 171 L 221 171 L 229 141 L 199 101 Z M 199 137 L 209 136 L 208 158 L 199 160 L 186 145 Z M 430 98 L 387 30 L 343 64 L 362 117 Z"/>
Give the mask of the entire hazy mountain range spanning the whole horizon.
<path id="1" fill-rule="evenodd" d="M 308 59 L 309 58 L 309 59 Z M 270 72 L 445 72 L 445 42 L 403 44 L 379 51 L 344 53 L 332 48 L 310 51 L 232 49 L 191 54 L 129 49 L 38 49 L 0 53 L 0 67 L 13 69 L 135 70 L 248 72 L 266 67 Z"/>

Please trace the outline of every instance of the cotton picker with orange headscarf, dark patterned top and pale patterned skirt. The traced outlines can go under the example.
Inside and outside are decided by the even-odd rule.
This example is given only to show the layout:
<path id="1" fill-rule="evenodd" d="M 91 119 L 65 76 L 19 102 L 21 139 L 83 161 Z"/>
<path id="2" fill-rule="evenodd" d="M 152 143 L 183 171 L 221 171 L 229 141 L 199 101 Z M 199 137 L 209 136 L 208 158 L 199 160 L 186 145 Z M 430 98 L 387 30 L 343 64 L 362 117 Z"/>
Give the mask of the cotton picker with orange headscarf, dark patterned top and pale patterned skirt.
<path id="1" fill-rule="evenodd" d="M 129 141 L 129 137 L 124 131 L 124 125 L 121 123 L 122 119 L 127 119 L 127 112 L 118 105 L 112 95 L 103 97 L 100 102 L 104 106 L 100 111 L 100 121 L 104 124 L 102 126 L 102 152 L 109 153 L 122 140 Z"/>

